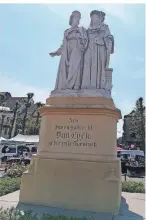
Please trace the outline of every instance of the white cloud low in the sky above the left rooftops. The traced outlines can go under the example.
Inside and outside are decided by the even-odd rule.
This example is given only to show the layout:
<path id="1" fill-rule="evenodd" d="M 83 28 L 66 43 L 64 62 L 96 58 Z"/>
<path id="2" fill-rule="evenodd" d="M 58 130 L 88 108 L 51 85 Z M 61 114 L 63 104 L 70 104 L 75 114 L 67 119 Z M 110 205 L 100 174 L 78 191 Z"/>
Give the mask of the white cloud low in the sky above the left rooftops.
<path id="1" fill-rule="evenodd" d="M 26 96 L 28 92 L 33 92 L 34 100 L 45 102 L 49 97 L 51 90 L 46 88 L 37 88 L 33 85 L 27 85 L 23 82 L 17 81 L 17 79 L 10 78 L 0 73 L 0 91 L 10 92 L 12 96 Z"/>

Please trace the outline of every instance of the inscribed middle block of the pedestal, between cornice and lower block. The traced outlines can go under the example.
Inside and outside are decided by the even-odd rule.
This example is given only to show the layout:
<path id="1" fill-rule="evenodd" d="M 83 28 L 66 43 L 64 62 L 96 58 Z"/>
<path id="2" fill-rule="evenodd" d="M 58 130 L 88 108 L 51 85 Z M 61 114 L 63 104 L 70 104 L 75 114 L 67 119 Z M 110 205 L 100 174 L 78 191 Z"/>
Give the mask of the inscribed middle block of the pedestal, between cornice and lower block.
<path id="1" fill-rule="evenodd" d="M 38 152 L 48 157 L 115 157 L 116 118 L 109 115 L 46 114 L 42 118 Z M 114 137 L 114 138 L 113 138 Z M 114 153 L 113 153 L 114 152 Z M 56 154 L 56 155 L 55 155 Z M 66 154 L 66 155 L 65 155 Z"/>

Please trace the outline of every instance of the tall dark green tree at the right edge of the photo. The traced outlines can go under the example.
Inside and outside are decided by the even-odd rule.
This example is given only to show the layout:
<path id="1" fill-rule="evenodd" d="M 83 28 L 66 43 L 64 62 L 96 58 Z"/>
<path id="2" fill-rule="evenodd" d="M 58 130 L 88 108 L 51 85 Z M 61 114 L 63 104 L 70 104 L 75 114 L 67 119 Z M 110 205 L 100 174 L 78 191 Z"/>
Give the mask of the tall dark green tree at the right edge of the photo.
<path id="1" fill-rule="evenodd" d="M 140 149 L 145 152 L 145 106 L 142 97 L 136 101 L 131 117 L 130 134 L 140 142 Z"/>

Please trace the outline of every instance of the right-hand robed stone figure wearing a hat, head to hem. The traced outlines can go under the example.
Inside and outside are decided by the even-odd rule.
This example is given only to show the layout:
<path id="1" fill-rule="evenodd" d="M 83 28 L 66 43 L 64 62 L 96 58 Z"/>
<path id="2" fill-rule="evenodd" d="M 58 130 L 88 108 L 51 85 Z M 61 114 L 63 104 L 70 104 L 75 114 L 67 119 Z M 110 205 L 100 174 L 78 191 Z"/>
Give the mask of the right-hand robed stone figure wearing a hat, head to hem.
<path id="1" fill-rule="evenodd" d="M 87 30 L 89 44 L 84 55 L 82 89 L 105 89 L 106 70 L 110 54 L 114 53 L 114 38 L 108 25 L 104 24 L 105 13 L 92 11 Z"/>

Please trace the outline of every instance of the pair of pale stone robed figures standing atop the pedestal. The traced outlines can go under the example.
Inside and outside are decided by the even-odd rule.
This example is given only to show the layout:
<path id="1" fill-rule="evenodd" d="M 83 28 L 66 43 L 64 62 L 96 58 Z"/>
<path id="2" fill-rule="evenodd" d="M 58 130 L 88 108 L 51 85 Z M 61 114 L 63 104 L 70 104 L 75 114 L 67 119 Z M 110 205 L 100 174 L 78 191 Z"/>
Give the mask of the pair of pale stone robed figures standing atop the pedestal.
<path id="1" fill-rule="evenodd" d="M 104 23 L 105 13 L 92 11 L 89 28 L 79 27 L 81 13 L 73 11 L 64 32 L 61 47 L 50 53 L 59 56 L 55 91 L 106 89 L 106 73 L 110 54 L 114 52 L 114 38 Z M 110 88 L 111 89 L 111 88 Z"/>

